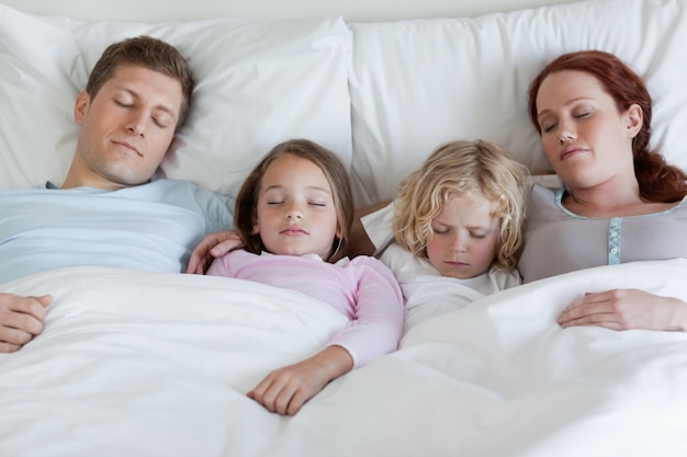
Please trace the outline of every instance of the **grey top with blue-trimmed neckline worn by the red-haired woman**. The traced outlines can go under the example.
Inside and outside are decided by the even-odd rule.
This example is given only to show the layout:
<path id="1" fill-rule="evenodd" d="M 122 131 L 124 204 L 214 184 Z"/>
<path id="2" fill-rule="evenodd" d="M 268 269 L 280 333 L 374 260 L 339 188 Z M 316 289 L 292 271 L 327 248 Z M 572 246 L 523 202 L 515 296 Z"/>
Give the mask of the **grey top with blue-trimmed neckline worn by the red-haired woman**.
<path id="1" fill-rule="evenodd" d="M 593 266 L 687 259 L 687 197 L 662 213 L 597 218 L 565 209 L 563 194 L 532 186 L 518 263 L 525 283 Z"/>

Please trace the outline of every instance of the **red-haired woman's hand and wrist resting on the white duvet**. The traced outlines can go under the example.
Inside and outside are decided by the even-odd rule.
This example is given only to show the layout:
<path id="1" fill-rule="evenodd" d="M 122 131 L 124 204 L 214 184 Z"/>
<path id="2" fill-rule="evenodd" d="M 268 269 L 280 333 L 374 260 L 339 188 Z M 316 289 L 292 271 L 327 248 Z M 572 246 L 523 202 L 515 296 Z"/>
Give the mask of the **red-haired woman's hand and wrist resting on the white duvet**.
<path id="1" fill-rule="evenodd" d="M 612 330 L 687 330 L 687 304 L 637 289 L 587 293 L 559 317 L 563 327 L 597 325 Z"/>

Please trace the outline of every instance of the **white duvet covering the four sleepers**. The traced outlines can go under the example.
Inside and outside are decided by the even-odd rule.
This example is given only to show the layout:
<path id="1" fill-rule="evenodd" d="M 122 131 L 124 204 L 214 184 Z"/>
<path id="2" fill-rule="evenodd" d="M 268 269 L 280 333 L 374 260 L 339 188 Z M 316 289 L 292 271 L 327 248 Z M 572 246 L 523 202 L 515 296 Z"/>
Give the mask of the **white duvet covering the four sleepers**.
<path id="1" fill-rule="evenodd" d="M 301 294 L 219 277 L 66 269 L 45 331 L 0 355 L 0 456 L 687 456 L 687 334 L 561 329 L 584 292 L 687 299 L 687 261 L 505 290 L 436 317 L 293 418 L 245 393 L 346 319 Z"/>

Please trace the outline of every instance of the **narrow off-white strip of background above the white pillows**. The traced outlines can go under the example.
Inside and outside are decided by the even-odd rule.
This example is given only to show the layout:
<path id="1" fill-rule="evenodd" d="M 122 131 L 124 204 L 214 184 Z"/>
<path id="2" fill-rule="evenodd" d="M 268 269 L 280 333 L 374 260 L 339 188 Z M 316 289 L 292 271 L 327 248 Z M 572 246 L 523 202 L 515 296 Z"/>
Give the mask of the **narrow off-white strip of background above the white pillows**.
<path id="1" fill-rule="evenodd" d="M 34 14 L 60 14 L 83 20 L 160 22 L 218 16 L 312 19 L 342 15 L 347 21 L 477 16 L 489 12 L 506 12 L 522 8 L 568 3 L 571 0 L 3 0 L 2 3 Z"/>

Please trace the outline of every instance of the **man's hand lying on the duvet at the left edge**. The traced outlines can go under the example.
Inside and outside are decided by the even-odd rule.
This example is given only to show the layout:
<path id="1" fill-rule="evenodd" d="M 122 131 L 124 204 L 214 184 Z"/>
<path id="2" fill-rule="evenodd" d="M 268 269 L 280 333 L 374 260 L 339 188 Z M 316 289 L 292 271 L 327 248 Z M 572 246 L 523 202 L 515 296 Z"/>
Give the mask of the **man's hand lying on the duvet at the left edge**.
<path id="1" fill-rule="evenodd" d="M 46 307 L 53 297 L 0 294 L 0 352 L 19 351 L 43 331 Z"/>

